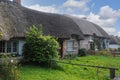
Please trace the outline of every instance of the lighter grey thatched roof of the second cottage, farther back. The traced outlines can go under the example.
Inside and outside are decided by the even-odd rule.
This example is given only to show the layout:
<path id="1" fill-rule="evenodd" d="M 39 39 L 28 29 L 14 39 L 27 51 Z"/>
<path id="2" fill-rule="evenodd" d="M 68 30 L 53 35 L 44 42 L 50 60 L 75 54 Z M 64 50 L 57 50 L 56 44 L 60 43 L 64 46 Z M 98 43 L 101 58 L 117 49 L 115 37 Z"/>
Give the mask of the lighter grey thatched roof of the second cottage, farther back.
<path id="1" fill-rule="evenodd" d="M 97 37 L 109 38 L 109 35 L 97 24 L 89 22 L 86 19 L 77 18 L 74 16 L 66 15 L 70 17 L 79 26 L 84 35 L 96 35 Z"/>

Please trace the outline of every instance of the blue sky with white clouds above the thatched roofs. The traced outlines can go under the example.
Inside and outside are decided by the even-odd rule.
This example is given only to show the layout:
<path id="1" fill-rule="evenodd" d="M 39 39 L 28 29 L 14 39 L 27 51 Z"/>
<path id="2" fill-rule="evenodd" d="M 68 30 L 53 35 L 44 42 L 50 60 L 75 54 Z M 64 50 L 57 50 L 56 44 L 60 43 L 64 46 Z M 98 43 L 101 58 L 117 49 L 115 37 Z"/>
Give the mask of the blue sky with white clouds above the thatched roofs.
<path id="1" fill-rule="evenodd" d="M 87 17 L 106 32 L 120 36 L 120 0 L 22 0 L 31 9 Z"/>

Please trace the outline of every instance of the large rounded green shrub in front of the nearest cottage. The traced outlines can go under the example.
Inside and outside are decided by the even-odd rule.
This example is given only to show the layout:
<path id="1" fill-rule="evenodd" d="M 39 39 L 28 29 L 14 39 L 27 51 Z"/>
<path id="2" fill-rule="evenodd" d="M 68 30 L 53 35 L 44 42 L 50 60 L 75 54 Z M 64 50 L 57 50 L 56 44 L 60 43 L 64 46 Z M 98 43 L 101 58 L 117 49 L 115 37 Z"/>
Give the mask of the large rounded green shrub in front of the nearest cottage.
<path id="1" fill-rule="evenodd" d="M 59 44 L 52 36 L 44 36 L 42 26 L 31 26 L 27 32 L 23 56 L 27 62 L 39 63 L 48 67 L 55 64 L 58 59 Z"/>

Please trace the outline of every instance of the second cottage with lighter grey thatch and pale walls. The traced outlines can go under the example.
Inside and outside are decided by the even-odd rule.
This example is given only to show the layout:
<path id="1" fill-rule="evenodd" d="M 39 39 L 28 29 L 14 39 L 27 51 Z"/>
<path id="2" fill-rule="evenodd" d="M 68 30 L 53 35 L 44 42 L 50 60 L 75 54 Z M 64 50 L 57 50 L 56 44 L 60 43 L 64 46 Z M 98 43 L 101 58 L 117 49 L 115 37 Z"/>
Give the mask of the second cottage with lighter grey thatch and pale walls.
<path id="1" fill-rule="evenodd" d="M 80 41 L 80 48 L 86 50 L 99 50 L 109 48 L 109 35 L 97 24 L 89 22 L 86 18 L 69 16 L 80 28 L 84 40 Z"/>

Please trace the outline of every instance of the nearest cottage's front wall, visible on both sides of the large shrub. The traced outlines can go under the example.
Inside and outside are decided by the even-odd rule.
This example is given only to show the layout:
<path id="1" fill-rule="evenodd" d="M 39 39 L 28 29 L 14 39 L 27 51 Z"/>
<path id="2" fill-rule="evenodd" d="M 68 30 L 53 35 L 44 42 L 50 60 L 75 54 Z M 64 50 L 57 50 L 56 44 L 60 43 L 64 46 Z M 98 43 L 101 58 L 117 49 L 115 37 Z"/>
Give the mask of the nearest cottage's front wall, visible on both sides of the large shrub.
<path id="1" fill-rule="evenodd" d="M 10 41 L 5 41 L 5 51 L 7 53 L 7 43 L 9 42 L 11 45 L 14 41 L 17 41 L 17 52 L 13 52 L 12 49 L 13 47 L 11 46 L 11 51 L 10 53 L 13 53 L 13 54 L 19 54 L 19 55 L 22 55 L 22 49 L 23 49 L 23 46 L 25 44 L 25 40 L 24 39 L 11 39 Z M 68 51 L 68 42 L 69 41 L 72 41 L 73 42 L 73 51 Z M 79 41 L 77 41 L 76 39 L 70 39 L 70 40 L 64 40 L 63 41 L 63 55 L 69 55 L 69 54 L 78 54 L 78 49 L 79 49 Z"/>

